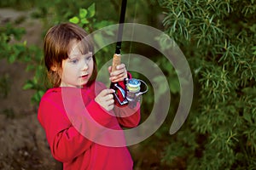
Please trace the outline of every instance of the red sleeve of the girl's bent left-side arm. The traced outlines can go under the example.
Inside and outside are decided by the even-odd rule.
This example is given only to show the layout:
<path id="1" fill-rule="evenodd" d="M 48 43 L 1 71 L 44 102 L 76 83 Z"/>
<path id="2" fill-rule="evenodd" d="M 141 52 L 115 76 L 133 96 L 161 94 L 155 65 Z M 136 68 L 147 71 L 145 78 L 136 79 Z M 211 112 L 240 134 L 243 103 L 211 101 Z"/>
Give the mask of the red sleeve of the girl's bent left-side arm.
<path id="1" fill-rule="evenodd" d="M 70 103 L 70 105 L 72 105 L 75 119 L 67 116 L 66 110 L 64 111 L 61 105 L 57 105 L 50 99 L 43 99 L 38 110 L 38 120 L 44 127 L 52 155 L 56 160 L 62 162 L 72 161 L 75 157 L 81 155 L 93 144 L 93 140 L 90 139 L 94 139 L 101 134 L 96 132 L 100 129 L 90 126 L 90 119 L 89 121 L 86 119 L 90 115 L 81 114 L 84 113 L 84 105 L 73 105 L 73 103 Z M 65 109 L 68 107 L 68 105 L 65 105 Z M 103 111 L 94 100 L 86 106 L 86 109 L 89 114 L 93 112 L 92 115 L 94 115 L 96 113 L 93 116 L 96 122 L 102 125 L 109 122 L 111 116 Z M 88 133 L 90 135 L 89 139 L 84 137 L 84 132 L 90 132 Z"/>

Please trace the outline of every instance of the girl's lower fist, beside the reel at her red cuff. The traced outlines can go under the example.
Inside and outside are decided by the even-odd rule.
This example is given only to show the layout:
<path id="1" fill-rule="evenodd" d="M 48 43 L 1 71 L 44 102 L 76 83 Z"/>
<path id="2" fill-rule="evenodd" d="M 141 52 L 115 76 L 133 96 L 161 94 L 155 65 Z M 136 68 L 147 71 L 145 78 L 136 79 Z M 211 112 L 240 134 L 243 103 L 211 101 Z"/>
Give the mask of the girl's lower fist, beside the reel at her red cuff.
<path id="1" fill-rule="evenodd" d="M 113 100 L 113 89 L 104 89 L 100 94 L 96 96 L 96 103 L 101 105 L 106 111 L 113 110 L 114 100 Z"/>

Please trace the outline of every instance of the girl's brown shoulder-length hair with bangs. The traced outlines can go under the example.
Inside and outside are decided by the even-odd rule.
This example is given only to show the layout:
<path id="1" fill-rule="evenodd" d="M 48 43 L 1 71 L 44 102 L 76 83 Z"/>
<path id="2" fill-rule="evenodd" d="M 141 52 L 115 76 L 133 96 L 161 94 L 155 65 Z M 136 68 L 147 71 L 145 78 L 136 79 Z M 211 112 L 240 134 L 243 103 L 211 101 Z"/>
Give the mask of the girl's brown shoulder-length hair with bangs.
<path id="1" fill-rule="evenodd" d="M 59 87 L 61 84 L 61 77 L 58 71 L 62 68 L 62 60 L 68 58 L 69 45 L 73 39 L 83 43 L 84 54 L 92 52 L 93 44 L 86 31 L 83 28 L 74 25 L 72 23 L 63 23 L 57 26 L 53 26 L 47 31 L 44 37 L 44 64 L 48 71 L 49 81 L 54 88 Z M 86 86 L 90 86 L 92 82 L 96 80 L 96 59 L 93 55 L 94 68 L 92 76 Z M 52 67 L 57 67 L 58 71 L 53 71 Z"/>

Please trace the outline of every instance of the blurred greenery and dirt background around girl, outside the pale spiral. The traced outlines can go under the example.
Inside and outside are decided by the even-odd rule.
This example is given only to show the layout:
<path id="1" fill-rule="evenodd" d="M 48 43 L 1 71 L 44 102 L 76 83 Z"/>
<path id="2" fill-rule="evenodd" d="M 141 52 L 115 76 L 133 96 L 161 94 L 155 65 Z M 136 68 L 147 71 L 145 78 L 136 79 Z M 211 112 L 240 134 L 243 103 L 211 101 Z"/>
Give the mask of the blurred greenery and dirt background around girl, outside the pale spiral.
<path id="1" fill-rule="evenodd" d="M 43 39 L 49 27 L 73 22 L 92 32 L 118 24 L 120 0 L 2 0 L 0 2 L 0 169 L 61 169 L 49 152 L 37 110 L 49 88 Z M 193 74 L 189 116 L 169 133 L 180 87 L 172 65 L 155 49 L 124 42 L 123 53 L 141 54 L 165 73 L 169 87 L 157 99 L 170 110 L 148 139 L 129 147 L 134 169 L 256 169 L 256 2 L 254 0 L 129 0 L 125 22 L 164 31 L 183 51 Z M 163 48 L 166 37 L 158 37 Z M 104 41 L 103 39 L 100 41 Z M 97 55 L 99 67 L 114 44 Z M 145 79 L 134 72 L 133 77 Z M 161 84 L 161 79 L 154 83 Z M 148 83 L 150 85 L 150 83 Z M 170 92 L 172 103 L 165 103 Z M 143 98 L 142 122 L 154 103 Z"/>

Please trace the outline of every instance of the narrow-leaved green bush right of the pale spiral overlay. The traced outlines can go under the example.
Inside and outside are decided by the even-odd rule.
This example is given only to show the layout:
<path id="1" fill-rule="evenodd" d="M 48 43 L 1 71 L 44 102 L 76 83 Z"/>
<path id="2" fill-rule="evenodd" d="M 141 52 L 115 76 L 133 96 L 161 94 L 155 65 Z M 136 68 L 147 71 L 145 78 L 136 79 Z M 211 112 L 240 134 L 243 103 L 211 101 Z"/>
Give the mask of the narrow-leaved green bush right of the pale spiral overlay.
<path id="1" fill-rule="evenodd" d="M 253 169 L 256 2 L 159 2 L 166 33 L 189 59 L 196 84 L 189 120 L 177 132 L 180 138 L 172 137 L 163 161 L 182 157 L 187 169 Z"/>

